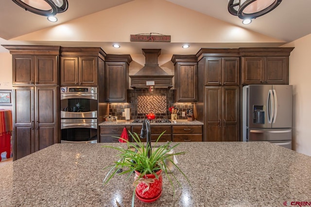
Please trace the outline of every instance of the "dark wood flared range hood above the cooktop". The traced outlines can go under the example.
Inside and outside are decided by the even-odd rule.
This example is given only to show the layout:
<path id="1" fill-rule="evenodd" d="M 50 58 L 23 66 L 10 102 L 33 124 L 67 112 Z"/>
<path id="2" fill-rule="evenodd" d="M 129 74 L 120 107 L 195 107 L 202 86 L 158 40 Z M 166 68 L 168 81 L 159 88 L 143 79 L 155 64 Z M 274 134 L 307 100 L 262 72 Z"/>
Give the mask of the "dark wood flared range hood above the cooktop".
<path id="1" fill-rule="evenodd" d="M 172 88 L 173 76 L 168 75 L 158 64 L 161 49 L 141 49 L 145 56 L 145 66 L 130 76 L 132 88 Z"/>

